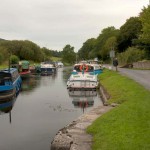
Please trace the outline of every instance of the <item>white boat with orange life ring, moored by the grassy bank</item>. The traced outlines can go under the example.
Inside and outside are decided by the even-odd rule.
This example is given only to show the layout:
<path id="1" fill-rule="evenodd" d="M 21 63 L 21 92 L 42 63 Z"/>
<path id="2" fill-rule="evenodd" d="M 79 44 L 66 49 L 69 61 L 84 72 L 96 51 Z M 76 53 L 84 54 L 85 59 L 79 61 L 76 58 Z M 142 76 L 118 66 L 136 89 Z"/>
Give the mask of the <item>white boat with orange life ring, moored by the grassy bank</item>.
<path id="1" fill-rule="evenodd" d="M 68 79 L 68 89 L 96 89 L 98 87 L 97 75 L 90 64 L 75 64 L 73 72 Z"/>

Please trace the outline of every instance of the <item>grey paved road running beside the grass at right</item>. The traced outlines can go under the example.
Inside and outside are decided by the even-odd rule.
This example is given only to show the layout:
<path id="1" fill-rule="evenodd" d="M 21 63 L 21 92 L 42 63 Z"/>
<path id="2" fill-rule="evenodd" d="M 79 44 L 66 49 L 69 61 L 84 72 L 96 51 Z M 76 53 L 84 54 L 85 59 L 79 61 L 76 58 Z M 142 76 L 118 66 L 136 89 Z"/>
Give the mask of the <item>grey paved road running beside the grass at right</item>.
<path id="1" fill-rule="evenodd" d="M 128 76 L 131 79 L 134 79 L 136 82 L 143 85 L 146 89 L 150 90 L 150 70 L 118 68 L 118 71 L 121 74 Z"/>

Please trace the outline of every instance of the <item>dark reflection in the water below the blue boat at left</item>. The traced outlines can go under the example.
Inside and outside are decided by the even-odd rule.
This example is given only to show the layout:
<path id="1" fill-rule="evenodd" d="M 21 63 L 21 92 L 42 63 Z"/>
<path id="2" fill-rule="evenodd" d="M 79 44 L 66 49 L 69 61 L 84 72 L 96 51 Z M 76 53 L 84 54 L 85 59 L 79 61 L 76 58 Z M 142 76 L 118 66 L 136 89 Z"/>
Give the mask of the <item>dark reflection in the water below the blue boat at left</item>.
<path id="1" fill-rule="evenodd" d="M 9 122 L 11 123 L 11 110 L 16 101 L 16 97 L 11 99 L 0 100 L 0 115 L 9 114 Z"/>

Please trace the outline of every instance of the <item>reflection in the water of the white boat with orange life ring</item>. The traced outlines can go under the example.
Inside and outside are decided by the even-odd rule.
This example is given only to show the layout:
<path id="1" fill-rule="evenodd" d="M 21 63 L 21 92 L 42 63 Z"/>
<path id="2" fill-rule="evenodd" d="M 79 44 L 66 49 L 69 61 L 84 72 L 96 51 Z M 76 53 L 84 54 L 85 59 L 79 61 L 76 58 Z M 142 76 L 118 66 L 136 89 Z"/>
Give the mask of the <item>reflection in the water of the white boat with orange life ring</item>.
<path id="1" fill-rule="evenodd" d="M 94 98 L 97 97 L 96 91 L 69 91 L 69 97 L 72 98 L 72 104 L 75 108 L 81 108 L 83 113 L 87 107 L 92 107 L 94 105 Z"/>

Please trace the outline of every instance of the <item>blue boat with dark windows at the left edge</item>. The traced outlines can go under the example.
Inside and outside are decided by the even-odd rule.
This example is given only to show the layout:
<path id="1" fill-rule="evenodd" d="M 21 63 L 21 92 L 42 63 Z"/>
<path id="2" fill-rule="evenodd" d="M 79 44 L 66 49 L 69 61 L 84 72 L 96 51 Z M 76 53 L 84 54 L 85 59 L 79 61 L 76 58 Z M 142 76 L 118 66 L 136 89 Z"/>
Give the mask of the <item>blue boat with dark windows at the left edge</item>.
<path id="1" fill-rule="evenodd" d="M 21 84 L 22 80 L 16 68 L 0 70 L 0 101 L 17 96 Z"/>

